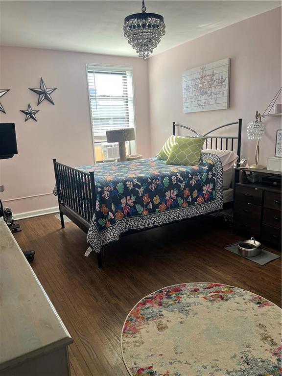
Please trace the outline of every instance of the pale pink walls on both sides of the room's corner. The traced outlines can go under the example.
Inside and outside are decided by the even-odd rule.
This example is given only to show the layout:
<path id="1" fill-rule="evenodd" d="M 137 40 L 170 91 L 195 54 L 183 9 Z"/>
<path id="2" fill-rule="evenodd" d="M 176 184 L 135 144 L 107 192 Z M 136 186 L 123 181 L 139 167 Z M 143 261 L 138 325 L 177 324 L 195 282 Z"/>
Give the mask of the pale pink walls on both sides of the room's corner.
<path id="1" fill-rule="evenodd" d="M 182 72 L 199 65 L 231 58 L 230 108 L 184 114 Z M 0 161 L 1 198 L 15 213 L 57 205 L 52 158 L 69 165 L 92 164 L 93 146 L 86 81 L 86 63 L 133 66 L 137 152 L 156 153 L 178 121 L 204 133 L 217 125 L 244 119 L 242 156 L 254 162 L 256 141 L 246 138 L 246 124 L 255 111 L 263 112 L 281 86 L 281 8 L 212 32 L 150 58 L 103 56 L 22 47 L 0 48 L 0 87 L 11 91 L 0 98 L 6 115 L 0 122 L 15 122 L 19 154 Z M 28 90 L 40 77 L 58 89 L 55 106 Z M 148 98 L 148 93 L 150 98 Z M 150 99 L 150 100 L 149 100 Z M 28 103 L 39 109 L 38 122 L 24 122 Z M 280 101 L 281 103 L 281 101 Z M 276 130 L 281 118 L 265 118 L 261 160 L 274 156 Z M 234 134 L 232 130 L 226 134 Z M 151 137 L 150 137 L 151 135 Z M 37 196 L 40 195 L 40 196 Z M 32 196 L 19 200 L 20 197 Z M 34 197 L 35 196 L 35 197 Z"/>

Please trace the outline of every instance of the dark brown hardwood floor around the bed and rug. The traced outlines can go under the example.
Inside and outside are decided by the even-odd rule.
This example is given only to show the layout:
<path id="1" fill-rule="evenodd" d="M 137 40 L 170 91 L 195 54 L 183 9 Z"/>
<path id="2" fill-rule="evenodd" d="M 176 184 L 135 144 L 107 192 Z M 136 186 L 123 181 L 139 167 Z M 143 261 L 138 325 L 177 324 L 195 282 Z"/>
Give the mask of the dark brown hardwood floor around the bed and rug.
<path id="1" fill-rule="evenodd" d="M 103 268 L 84 257 L 86 235 L 54 215 L 19 221 L 15 234 L 69 329 L 72 376 L 126 376 L 120 334 L 130 309 L 145 295 L 183 282 L 219 282 L 281 306 L 281 258 L 264 266 L 225 251 L 242 238 L 215 218 L 192 219 L 122 237 L 106 247 Z M 264 247 L 280 254 L 270 247 Z M 26 286 L 28 288 L 28 286 Z"/>

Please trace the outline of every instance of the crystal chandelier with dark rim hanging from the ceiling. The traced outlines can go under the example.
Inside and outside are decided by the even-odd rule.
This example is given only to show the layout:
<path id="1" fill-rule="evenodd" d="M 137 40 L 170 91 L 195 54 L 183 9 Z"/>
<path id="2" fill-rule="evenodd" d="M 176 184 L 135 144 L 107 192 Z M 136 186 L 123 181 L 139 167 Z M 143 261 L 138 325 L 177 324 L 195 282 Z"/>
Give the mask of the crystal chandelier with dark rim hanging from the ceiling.
<path id="1" fill-rule="evenodd" d="M 144 0 L 141 10 L 142 13 L 131 14 L 124 19 L 123 31 L 128 43 L 136 49 L 139 57 L 146 60 L 165 34 L 165 24 L 163 16 L 146 13 Z"/>

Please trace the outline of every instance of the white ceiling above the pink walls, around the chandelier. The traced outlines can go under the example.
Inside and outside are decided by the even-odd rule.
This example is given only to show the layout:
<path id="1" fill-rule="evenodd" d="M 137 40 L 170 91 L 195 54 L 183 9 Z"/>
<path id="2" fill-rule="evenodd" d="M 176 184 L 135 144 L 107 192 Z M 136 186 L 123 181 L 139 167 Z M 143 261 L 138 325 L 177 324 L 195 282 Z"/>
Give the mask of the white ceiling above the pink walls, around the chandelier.
<path id="1" fill-rule="evenodd" d="M 281 1 L 154 1 L 148 12 L 164 16 L 166 34 L 154 54 L 245 20 Z M 0 44 L 107 55 L 137 56 L 123 36 L 124 17 L 140 1 L 0 1 Z"/>

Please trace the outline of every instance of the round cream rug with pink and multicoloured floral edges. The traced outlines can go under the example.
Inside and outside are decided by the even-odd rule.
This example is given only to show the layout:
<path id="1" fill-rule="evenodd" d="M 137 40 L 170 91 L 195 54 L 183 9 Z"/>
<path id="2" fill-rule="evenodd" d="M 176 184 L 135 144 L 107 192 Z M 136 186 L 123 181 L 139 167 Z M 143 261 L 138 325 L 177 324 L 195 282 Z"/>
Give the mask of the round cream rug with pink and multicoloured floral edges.
<path id="1" fill-rule="evenodd" d="M 135 305 L 121 349 L 132 376 L 278 376 L 281 309 L 225 284 L 177 284 Z"/>

